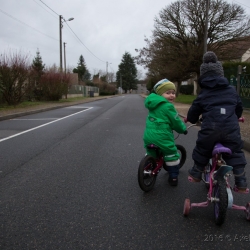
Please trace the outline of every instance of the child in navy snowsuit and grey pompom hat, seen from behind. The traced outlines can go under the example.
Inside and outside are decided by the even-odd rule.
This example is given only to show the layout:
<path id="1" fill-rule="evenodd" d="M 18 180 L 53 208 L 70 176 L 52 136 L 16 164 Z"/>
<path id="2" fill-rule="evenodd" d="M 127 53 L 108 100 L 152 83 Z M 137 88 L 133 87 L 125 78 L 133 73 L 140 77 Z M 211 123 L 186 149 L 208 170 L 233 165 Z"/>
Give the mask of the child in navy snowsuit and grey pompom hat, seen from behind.
<path id="1" fill-rule="evenodd" d="M 246 159 L 238 121 L 243 111 L 242 102 L 235 88 L 224 77 L 222 65 L 212 51 L 203 56 L 198 83 L 201 92 L 193 101 L 187 120 L 196 123 L 202 115 L 202 125 L 193 150 L 194 166 L 188 171 L 189 176 L 193 181 L 201 180 L 213 147 L 220 142 L 232 151 L 231 155 L 224 155 L 223 158 L 233 167 L 235 186 L 244 192 L 247 188 Z"/>

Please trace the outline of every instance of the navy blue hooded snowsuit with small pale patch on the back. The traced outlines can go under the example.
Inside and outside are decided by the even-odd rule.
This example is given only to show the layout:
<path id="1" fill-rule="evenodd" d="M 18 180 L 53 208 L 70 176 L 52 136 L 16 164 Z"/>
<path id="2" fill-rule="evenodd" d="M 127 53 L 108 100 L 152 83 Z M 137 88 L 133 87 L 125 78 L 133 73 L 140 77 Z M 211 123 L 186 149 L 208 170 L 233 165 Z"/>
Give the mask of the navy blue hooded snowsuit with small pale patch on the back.
<path id="1" fill-rule="evenodd" d="M 225 77 L 206 74 L 199 79 L 201 92 L 193 101 L 187 120 L 196 123 L 202 115 L 193 159 L 205 164 L 211 157 L 216 142 L 232 151 L 242 147 L 238 118 L 242 115 L 242 102 L 235 88 Z"/>

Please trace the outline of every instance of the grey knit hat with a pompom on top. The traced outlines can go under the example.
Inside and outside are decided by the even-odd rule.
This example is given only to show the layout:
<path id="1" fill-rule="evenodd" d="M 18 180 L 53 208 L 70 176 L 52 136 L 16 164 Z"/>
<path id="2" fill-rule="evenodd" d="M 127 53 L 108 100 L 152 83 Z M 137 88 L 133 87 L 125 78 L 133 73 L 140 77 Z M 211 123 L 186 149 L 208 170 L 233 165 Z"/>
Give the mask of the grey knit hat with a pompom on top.
<path id="1" fill-rule="evenodd" d="M 203 63 L 200 67 L 200 76 L 208 73 L 210 75 L 224 76 L 221 63 L 218 61 L 214 52 L 208 51 L 203 56 Z"/>

